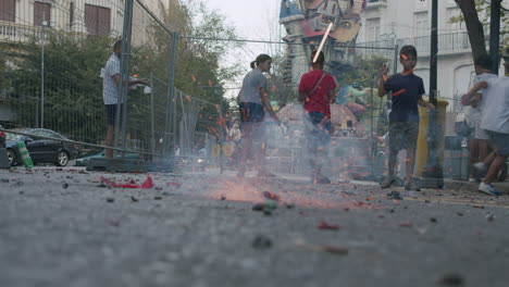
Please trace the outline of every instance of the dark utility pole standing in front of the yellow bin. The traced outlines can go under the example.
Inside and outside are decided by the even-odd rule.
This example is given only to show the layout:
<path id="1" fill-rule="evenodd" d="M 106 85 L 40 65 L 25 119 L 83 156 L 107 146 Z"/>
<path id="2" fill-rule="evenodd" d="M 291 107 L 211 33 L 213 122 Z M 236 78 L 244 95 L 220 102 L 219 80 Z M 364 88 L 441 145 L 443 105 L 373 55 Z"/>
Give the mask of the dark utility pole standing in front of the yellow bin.
<path id="1" fill-rule="evenodd" d="M 438 104 L 437 104 L 437 73 L 438 73 L 438 0 L 432 0 L 432 32 L 430 49 L 430 102 L 435 105 L 429 111 L 427 126 L 427 162 L 424 167 L 423 177 L 425 187 L 444 187 L 444 174 L 438 157 Z"/>

